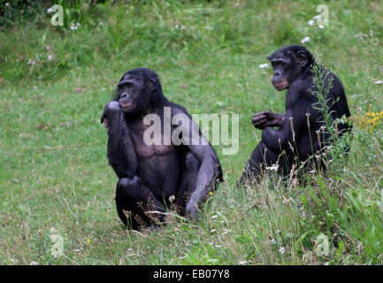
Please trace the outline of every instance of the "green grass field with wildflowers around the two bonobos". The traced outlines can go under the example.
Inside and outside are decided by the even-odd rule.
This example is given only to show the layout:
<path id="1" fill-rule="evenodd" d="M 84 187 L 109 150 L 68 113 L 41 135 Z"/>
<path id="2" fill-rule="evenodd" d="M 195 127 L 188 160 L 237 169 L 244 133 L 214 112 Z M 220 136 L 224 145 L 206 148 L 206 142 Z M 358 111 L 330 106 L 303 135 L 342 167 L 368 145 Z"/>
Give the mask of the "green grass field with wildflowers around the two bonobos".
<path id="1" fill-rule="evenodd" d="M 329 27 L 310 27 L 323 2 L 79 4 L 65 27 L 42 11 L 1 29 L 0 264 L 383 264 L 382 124 L 355 126 L 348 162 L 307 186 L 275 176 L 234 186 L 260 138 L 252 114 L 284 111 L 270 67 L 258 67 L 280 46 L 310 36 L 305 45 L 342 80 L 355 121 L 370 104 L 383 111 L 374 83 L 383 80 L 383 6 L 325 1 Z M 376 45 L 355 36 L 370 30 Z M 159 73 L 165 96 L 190 113 L 241 114 L 240 150 L 216 147 L 226 183 L 198 223 L 174 216 L 161 232 L 135 233 L 115 211 L 99 118 L 122 73 L 138 66 Z M 64 256 L 52 256 L 52 233 L 64 237 Z"/>

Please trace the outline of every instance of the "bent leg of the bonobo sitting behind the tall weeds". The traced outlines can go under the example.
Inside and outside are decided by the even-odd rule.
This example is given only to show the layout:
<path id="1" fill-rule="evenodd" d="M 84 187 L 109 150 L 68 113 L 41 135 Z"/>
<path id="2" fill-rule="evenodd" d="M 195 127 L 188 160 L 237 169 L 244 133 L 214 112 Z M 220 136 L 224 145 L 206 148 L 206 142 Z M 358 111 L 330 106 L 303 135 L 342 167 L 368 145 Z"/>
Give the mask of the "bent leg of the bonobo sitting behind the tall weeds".
<path id="1" fill-rule="evenodd" d="M 239 184 L 244 182 L 257 182 L 260 179 L 261 173 L 266 169 L 266 166 L 272 164 L 279 164 L 284 166 L 287 164 L 279 153 L 267 148 L 264 142 L 260 142 L 257 148 L 254 149 L 248 164 L 246 164 L 245 171 L 241 175 Z M 280 168 L 283 170 L 283 168 Z"/>

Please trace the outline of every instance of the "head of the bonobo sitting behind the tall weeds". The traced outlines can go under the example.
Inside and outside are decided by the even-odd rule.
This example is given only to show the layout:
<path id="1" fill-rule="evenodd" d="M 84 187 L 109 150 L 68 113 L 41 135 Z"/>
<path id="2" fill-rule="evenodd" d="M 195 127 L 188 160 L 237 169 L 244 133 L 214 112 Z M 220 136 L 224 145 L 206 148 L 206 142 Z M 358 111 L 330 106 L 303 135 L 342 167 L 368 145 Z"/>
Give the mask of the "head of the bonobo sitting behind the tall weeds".
<path id="1" fill-rule="evenodd" d="M 301 45 L 287 45 L 267 57 L 272 63 L 272 85 L 277 90 L 286 89 L 303 71 L 313 64 L 314 57 Z"/>

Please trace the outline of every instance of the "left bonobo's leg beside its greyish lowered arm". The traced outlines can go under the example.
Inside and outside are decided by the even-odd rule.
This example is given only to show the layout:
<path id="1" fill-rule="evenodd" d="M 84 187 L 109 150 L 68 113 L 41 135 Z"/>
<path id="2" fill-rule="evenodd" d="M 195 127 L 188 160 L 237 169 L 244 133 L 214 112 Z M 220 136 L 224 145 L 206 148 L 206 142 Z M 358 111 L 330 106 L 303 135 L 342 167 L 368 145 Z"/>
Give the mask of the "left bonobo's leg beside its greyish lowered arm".
<path id="1" fill-rule="evenodd" d="M 184 164 L 184 171 L 182 172 L 180 186 L 174 201 L 174 204 L 177 206 L 177 212 L 180 215 L 185 214 L 185 206 L 190 195 L 195 190 L 195 180 L 201 165 L 192 152 L 186 153 L 182 162 Z"/>

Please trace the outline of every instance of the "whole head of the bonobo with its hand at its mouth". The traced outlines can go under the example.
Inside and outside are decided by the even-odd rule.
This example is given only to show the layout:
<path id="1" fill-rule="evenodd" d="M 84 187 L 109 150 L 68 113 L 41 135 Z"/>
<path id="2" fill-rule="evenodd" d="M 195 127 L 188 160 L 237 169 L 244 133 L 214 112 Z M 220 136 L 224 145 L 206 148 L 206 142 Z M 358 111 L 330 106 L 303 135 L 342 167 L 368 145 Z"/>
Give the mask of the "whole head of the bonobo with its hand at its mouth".
<path id="1" fill-rule="evenodd" d="M 127 71 L 119 80 L 115 100 L 124 112 L 135 113 L 161 103 L 163 97 L 157 73 L 137 68 Z"/>

